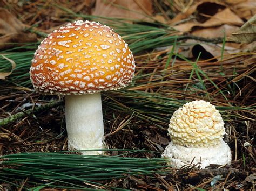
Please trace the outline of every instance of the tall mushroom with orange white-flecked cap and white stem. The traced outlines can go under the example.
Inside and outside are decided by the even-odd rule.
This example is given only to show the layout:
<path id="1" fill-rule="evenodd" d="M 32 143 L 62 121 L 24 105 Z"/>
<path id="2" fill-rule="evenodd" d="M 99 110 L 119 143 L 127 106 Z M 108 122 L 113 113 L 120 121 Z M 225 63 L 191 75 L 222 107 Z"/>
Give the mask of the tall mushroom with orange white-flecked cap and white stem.
<path id="1" fill-rule="evenodd" d="M 77 20 L 42 41 L 32 59 L 30 78 L 41 93 L 65 95 L 69 150 L 102 149 L 100 92 L 126 87 L 134 69 L 132 52 L 119 34 L 108 26 Z"/>

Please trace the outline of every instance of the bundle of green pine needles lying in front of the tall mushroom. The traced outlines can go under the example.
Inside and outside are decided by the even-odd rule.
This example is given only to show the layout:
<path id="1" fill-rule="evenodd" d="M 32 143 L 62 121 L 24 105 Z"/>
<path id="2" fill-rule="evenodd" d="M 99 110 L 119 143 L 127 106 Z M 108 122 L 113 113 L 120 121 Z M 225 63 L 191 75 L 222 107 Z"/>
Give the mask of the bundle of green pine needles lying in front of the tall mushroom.
<path id="1" fill-rule="evenodd" d="M 107 150 L 117 151 L 117 150 Z M 127 151 L 127 150 L 118 150 Z M 142 150 L 130 150 L 146 152 Z M 129 154 L 129 153 L 127 153 Z M 105 180 L 130 176 L 167 174 L 165 158 L 125 158 L 107 155 L 76 155 L 58 152 L 18 153 L 0 157 L 0 180 L 13 186 L 21 187 L 14 180 L 25 180 L 30 183 L 56 187 L 56 183 L 64 183 L 62 188 L 75 186 L 79 189 L 90 188 L 89 185 L 103 186 Z M 49 183 L 51 181 L 52 183 Z M 56 183 L 54 183 L 56 182 Z M 106 186 L 109 187 L 109 186 Z M 113 187 L 109 187 L 112 188 Z"/>

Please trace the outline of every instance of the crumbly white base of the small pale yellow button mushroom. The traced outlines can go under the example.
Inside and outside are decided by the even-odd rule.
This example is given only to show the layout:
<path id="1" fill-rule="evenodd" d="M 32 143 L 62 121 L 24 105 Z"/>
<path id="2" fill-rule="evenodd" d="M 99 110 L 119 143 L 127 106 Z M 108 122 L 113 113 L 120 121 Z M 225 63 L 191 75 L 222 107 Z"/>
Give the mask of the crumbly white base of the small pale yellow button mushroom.
<path id="1" fill-rule="evenodd" d="M 230 164 L 232 159 L 230 147 L 223 140 L 219 145 L 209 148 L 191 148 L 174 145 L 171 142 L 165 148 L 162 156 L 170 158 L 170 165 L 173 165 L 174 168 L 188 166 L 193 161 L 191 165 L 196 165 L 200 162 L 200 168 L 204 169 L 210 164 Z"/>

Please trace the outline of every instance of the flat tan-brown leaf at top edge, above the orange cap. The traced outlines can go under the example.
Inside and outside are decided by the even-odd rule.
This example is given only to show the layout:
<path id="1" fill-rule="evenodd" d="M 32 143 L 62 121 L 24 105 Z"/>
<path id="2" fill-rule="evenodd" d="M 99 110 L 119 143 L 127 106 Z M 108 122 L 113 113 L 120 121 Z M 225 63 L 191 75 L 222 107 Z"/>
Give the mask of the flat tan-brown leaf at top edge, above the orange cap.
<path id="1" fill-rule="evenodd" d="M 153 12 L 150 0 L 96 0 L 92 15 L 149 20 Z"/>

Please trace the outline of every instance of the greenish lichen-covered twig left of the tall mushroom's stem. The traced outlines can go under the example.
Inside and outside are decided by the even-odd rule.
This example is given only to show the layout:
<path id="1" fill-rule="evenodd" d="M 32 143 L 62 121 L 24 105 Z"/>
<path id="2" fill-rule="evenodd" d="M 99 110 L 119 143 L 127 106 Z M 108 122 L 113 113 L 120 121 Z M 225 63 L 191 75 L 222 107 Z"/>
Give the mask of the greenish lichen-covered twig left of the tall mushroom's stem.
<path id="1" fill-rule="evenodd" d="M 0 119 L 0 126 L 5 126 L 8 125 L 14 121 L 16 121 L 17 119 L 20 119 L 22 117 L 25 117 L 26 115 L 30 115 L 33 112 L 39 112 L 39 111 L 43 111 L 43 110 L 47 110 L 53 107 L 56 107 L 57 105 L 60 105 L 63 101 L 59 100 L 59 101 L 52 101 L 49 103 L 46 103 L 45 105 L 36 107 L 35 109 L 28 109 L 26 111 L 21 111 L 18 112 L 17 114 L 11 115 L 10 117 L 6 117 L 4 119 Z"/>

